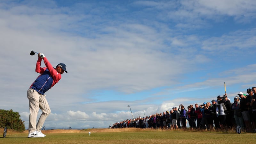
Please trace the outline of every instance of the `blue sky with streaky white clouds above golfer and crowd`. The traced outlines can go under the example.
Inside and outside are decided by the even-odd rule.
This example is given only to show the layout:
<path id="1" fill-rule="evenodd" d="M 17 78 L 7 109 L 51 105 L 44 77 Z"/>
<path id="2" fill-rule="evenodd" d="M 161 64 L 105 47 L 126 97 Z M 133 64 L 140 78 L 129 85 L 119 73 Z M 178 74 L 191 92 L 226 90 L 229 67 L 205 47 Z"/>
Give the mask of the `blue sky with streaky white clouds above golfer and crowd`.
<path id="1" fill-rule="evenodd" d="M 203 104 L 225 94 L 224 82 L 232 103 L 256 86 L 255 23 L 254 0 L 1 0 L 0 109 L 28 128 L 32 50 L 67 65 L 45 93 L 46 129 Z"/>

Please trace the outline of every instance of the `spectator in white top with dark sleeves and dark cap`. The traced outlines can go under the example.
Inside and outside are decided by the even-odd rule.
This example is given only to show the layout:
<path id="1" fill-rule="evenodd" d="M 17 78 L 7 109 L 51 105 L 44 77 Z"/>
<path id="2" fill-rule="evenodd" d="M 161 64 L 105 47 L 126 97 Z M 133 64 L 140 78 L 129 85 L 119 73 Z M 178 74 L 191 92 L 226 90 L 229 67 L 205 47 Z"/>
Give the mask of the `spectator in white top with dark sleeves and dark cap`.
<path id="1" fill-rule="evenodd" d="M 223 97 L 221 97 L 220 95 L 217 97 L 217 109 L 216 109 L 216 113 L 219 117 L 219 121 L 220 121 L 220 128 L 224 129 L 225 125 L 226 125 L 226 114 L 225 111 L 226 106 L 224 105 L 224 100 L 226 99 L 226 95 L 224 95 Z"/>

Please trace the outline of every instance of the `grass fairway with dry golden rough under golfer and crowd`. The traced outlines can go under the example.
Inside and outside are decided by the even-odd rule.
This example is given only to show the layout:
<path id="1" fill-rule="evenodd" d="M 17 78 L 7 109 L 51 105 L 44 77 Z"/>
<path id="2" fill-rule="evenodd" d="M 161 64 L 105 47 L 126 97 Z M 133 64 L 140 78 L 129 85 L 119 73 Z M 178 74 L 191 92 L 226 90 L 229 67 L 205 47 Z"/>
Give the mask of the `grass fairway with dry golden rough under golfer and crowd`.
<path id="1" fill-rule="evenodd" d="M 2 132 L 3 130 L 0 129 Z M 195 132 L 145 130 L 135 128 L 124 129 L 86 129 L 86 130 L 46 130 L 42 131 L 44 138 L 28 138 L 27 131 L 23 133 L 10 131 L 0 143 L 16 144 L 55 144 L 55 143 L 256 143 L 255 133 L 235 132 Z M 91 132 L 89 136 L 88 132 Z"/>

